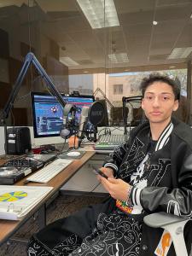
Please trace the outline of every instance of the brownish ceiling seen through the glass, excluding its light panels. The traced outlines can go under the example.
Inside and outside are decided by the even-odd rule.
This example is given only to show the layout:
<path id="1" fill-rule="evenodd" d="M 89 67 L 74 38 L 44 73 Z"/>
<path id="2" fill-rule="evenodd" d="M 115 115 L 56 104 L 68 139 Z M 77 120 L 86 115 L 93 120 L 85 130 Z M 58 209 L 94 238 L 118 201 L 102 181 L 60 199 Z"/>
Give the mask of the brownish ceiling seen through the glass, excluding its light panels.
<path id="1" fill-rule="evenodd" d="M 69 67 L 73 73 L 178 68 L 192 57 L 167 59 L 174 48 L 192 47 L 192 0 L 114 0 L 120 25 L 100 29 L 91 28 L 76 0 L 0 0 L 0 7 L 5 3 L 9 9 L 30 3 L 31 24 L 40 20 L 40 32 L 59 45 L 60 57 L 79 63 Z M 127 53 L 129 61 L 113 63 L 112 53 Z"/>

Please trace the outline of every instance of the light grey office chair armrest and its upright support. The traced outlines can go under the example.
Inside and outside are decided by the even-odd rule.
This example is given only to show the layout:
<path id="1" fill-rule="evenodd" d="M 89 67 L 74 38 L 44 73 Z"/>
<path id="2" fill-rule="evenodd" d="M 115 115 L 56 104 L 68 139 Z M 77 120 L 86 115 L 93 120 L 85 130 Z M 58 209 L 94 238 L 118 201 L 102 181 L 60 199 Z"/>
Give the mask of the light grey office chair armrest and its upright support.
<path id="1" fill-rule="evenodd" d="M 183 229 L 189 219 L 180 218 L 166 212 L 155 212 L 143 218 L 145 224 L 152 228 L 163 228 L 172 236 L 177 256 L 188 256 L 184 241 Z"/>

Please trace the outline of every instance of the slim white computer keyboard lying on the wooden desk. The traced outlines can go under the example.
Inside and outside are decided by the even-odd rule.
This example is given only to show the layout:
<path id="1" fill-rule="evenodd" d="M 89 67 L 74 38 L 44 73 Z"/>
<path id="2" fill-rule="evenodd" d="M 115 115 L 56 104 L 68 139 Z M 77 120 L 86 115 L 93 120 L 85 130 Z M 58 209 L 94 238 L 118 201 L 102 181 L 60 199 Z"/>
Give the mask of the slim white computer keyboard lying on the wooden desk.
<path id="1" fill-rule="evenodd" d="M 26 181 L 35 183 L 48 183 L 49 180 L 55 177 L 59 172 L 70 165 L 73 160 L 67 159 L 57 159 L 49 163 L 48 166 L 44 166 L 40 171 L 32 174 L 32 176 L 27 177 Z"/>

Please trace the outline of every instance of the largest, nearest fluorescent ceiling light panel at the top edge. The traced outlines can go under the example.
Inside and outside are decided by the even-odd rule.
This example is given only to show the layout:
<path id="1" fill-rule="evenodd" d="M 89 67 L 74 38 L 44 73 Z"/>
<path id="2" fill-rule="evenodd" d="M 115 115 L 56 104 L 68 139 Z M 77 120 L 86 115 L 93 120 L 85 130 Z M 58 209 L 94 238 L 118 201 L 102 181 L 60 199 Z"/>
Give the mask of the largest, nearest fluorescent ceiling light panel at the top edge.
<path id="1" fill-rule="evenodd" d="M 77 0 L 77 2 L 93 29 L 119 26 L 113 0 Z"/>

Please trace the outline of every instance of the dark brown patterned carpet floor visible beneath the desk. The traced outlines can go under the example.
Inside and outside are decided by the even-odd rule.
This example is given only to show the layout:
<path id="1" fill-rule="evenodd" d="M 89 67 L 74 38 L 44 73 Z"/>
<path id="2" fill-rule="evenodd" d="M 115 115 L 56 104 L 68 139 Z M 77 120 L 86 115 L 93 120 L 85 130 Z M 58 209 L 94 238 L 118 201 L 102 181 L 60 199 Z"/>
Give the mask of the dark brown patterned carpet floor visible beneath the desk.
<path id="1" fill-rule="evenodd" d="M 47 208 L 47 224 L 59 218 L 64 218 L 82 207 L 100 203 L 103 198 L 96 196 L 59 195 Z M 15 236 L 29 239 L 32 234 L 38 232 L 37 218 L 30 218 Z M 26 256 L 26 244 L 10 241 L 0 247 L 0 256 Z"/>

